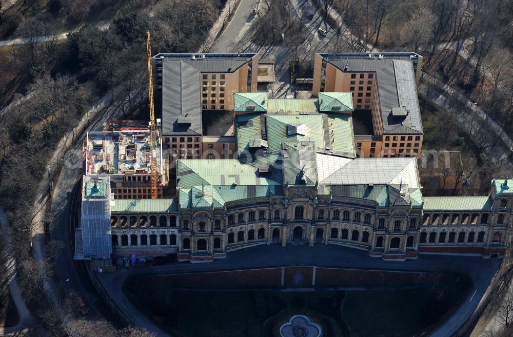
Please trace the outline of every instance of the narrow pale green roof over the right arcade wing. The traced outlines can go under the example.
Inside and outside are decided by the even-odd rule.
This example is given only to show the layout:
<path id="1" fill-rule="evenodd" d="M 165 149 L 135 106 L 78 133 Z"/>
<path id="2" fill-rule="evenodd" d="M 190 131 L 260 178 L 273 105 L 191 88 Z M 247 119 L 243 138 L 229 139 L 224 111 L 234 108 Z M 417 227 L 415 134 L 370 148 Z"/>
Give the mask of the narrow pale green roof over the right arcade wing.
<path id="1" fill-rule="evenodd" d="M 424 210 L 491 209 L 489 196 L 425 196 Z"/>

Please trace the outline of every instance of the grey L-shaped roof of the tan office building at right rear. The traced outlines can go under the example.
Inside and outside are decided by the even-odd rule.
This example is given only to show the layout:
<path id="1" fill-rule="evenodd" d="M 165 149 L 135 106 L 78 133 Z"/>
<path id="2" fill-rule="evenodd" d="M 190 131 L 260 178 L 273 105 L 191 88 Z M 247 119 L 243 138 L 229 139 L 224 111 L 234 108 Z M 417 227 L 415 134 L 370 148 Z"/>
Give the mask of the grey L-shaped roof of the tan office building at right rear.
<path id="1" fill-rule="evenodd" d="M 344 71 L 376 72 L 383 132 L 385 134 L 422 134 L 417 84 L 413 65 L 408 56 L 341 56 L 320 54 L 326 61 Z M 405 107 L 406 116 L 392 116 L 392 108 Z"/>

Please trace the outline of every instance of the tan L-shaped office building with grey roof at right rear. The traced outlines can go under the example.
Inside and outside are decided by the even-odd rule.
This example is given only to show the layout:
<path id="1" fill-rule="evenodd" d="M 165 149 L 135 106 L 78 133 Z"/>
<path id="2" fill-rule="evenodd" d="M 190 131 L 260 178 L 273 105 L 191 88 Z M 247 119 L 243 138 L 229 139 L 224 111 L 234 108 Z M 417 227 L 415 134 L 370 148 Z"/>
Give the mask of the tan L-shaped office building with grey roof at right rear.
<path id="1" fill-rule="evenodd" d="M 315 53 L 312 93 L 352 93 L 359 156 L 420 157 L 421 67 L 416 53 Z"/>

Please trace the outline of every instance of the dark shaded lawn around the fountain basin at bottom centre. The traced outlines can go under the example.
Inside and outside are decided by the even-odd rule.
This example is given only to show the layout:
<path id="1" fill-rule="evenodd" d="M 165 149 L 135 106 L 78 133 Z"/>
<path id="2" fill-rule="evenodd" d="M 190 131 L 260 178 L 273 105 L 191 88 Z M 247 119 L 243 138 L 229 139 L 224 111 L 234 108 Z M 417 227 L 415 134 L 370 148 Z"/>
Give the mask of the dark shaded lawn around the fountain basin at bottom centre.
<path id="1" fill-rule="evenodd" d="M 410 337 L 456 307 L 470 285 L 466 277 L 451 276 L 437 286 L 394 290 L 207 291 L 172 289 L 161 277 L 147 287 L 150 278 L 129 279 L 125 292 L 153 320 L 184 337 L 270 337 L 295 313 L 317 320 L 326 337 Z M 368 318 L 365 324 L 362 318 Z"/>

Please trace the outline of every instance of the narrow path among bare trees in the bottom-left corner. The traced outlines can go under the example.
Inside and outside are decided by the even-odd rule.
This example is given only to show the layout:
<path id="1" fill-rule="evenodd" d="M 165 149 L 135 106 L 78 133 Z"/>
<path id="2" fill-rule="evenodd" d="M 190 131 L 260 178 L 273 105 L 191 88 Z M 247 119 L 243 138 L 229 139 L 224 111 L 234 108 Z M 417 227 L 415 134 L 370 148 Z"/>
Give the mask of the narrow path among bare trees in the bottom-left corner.
<path id="1" fill-rule="evenodd" d="M 4 273 L 7 274 L 6 282 L 9 284 L 9 292 L 11 294 L 12 301 L 16 306 L 16 310 L 18 311 L 19 321 L 13 327 L 3 328 L 0 327 L 0 335 L 15 335 L 18 333 L 22 333 L 27 330 L 28 323 L 32 321 L 32 316 L 25 305 L 25 301 L 23 300 L 22 293 L 19 290 L 18 280 L 16 277 L 16 261 L 14 257 L 12 257 L 12 245 L 11 245 L 11 235 L 10 228 L 7 222 L 7 217 L 5 216 L 4 209 L 0 206 L 0 225 L 2 226 L 2 231 L 5 234 L 5 244 L 6 244 L 6 256 L 4 257 Z"/>

